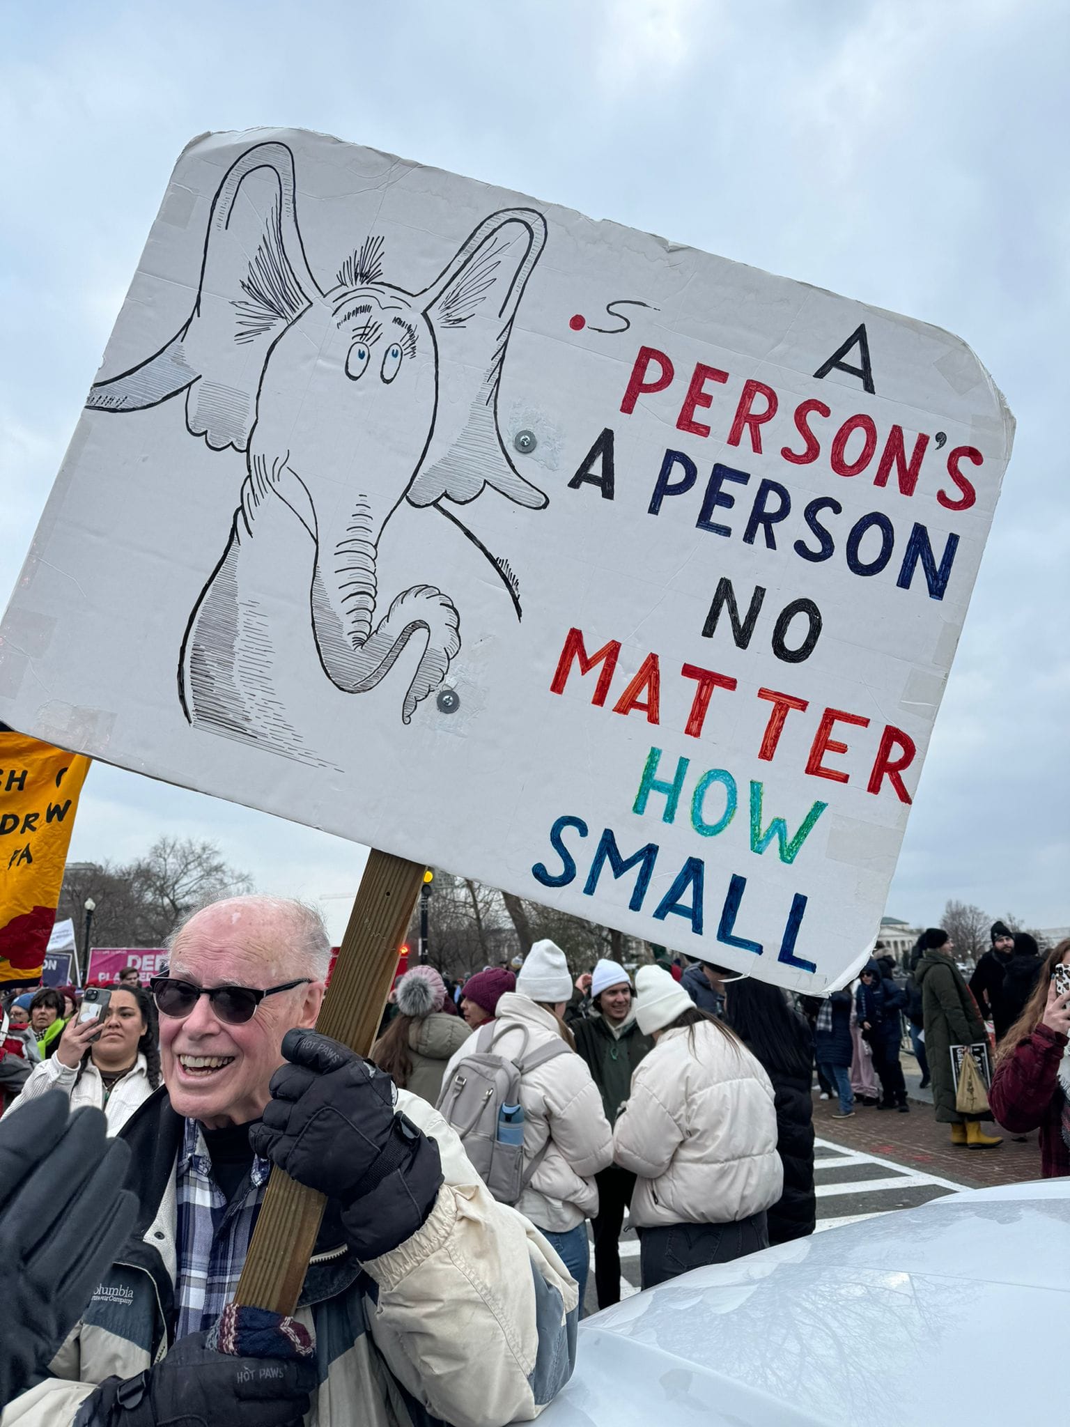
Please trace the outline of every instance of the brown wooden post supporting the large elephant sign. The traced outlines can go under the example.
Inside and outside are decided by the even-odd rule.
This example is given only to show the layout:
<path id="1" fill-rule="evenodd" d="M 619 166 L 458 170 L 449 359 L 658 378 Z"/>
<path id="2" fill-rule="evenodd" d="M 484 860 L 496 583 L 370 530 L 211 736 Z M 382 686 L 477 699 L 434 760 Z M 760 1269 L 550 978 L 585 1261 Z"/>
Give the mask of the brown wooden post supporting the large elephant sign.
<path id="1" fill-rule="evenodd" d="M 367 1056 L 375 1042 L 422 882 L 422 865 L 372 849 L 315 1023 L 358 1055 Z M 271 1170 L 235 1303 L 294 1311 L 325 1203 L 317 1190 Z"/>

